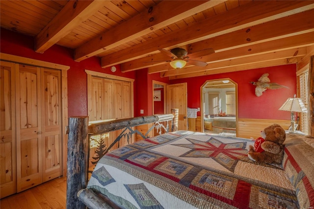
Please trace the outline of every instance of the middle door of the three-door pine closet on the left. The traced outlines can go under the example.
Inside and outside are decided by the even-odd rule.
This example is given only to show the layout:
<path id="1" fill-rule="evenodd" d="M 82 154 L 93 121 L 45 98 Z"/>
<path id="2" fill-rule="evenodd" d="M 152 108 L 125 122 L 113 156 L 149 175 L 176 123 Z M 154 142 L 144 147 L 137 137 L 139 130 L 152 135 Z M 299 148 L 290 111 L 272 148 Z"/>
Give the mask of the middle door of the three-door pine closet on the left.
<path id="1" fill-rule="evenodd" d="M 42 182 L 40 68 L 16 68 L 17 191 Z"/>

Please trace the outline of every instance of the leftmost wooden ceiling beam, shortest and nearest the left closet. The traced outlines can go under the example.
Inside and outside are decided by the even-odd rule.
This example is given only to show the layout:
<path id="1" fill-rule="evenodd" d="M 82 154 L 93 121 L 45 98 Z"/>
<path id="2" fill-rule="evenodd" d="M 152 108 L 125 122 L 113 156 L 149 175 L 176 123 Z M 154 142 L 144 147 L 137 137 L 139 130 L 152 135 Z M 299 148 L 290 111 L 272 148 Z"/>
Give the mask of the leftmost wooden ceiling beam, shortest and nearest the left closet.
<path id="1" fill-rule="evenodd" d="M 99 0 L 69 1 L 35 37 L 35 51 L 43 53 L 74 28 L 82 24 L 104 4 Z"/>

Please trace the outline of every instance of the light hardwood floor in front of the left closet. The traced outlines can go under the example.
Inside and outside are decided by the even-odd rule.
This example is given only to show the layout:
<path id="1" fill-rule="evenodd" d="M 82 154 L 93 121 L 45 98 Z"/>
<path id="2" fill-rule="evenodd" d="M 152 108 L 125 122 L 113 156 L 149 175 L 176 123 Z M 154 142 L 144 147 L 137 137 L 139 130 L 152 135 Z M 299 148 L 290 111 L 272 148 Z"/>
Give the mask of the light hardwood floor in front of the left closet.
<path id="1" fill-rule="evenodd" d="M 67 178 L 60 177 L 0 200 L 0 209 L 65 209 Z"/>

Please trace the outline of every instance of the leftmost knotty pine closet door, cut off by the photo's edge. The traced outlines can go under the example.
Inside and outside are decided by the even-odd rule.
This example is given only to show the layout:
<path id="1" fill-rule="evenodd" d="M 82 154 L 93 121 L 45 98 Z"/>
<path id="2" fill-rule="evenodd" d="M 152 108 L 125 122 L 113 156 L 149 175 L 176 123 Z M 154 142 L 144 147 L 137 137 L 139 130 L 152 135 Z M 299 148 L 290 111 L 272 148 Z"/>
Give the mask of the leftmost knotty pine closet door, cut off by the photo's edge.
<path id="1" fill-rule="evenodd" d="M 14 66 L 0 61 L 0 198 L 16 193 Z"/>

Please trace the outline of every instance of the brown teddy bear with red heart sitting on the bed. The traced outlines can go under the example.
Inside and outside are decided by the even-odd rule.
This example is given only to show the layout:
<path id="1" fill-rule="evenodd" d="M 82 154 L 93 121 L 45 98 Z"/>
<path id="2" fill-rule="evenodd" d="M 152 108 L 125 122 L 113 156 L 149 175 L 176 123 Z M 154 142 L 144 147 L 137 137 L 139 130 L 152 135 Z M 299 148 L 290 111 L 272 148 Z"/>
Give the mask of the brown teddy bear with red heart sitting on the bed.
<path id="1" fill-rule="evenodd" d="M 259 149 L 254 149 L 250 145 L 248 157 L 258 163 L 281 164 L 284 158 L 285 145 L 283 143 L 286 140 L 285 130 L 280 125 L 273 124 L 261 131 L 261 134 L 263 140 L 259 138 L 255 144 L 255 148 L 258 147 Z"/>

